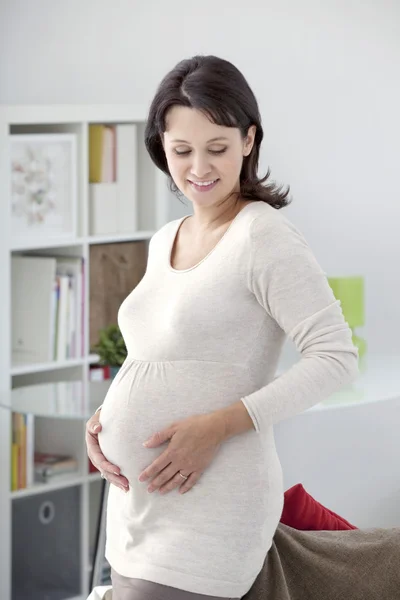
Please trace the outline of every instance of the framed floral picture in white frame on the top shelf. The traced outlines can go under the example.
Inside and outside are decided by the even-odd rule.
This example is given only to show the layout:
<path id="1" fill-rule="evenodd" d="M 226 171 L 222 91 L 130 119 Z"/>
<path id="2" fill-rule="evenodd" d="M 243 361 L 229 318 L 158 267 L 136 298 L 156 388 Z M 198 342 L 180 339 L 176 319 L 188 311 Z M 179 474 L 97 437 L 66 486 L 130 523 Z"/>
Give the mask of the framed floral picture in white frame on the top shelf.
<path id="1" fill-rule="evenodd" d="M 10 158 L 13 245 L 75 237 L 76 135 L 11 135 Z"/>

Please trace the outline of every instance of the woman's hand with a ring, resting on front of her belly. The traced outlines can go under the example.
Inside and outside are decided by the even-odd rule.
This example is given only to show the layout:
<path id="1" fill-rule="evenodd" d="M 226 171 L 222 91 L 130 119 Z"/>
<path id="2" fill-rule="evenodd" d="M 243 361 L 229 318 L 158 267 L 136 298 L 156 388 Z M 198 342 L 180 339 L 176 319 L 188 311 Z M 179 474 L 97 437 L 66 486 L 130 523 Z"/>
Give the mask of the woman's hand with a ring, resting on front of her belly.
<path id="1" fill-rule="evenodd" d="M 194 415 L 172 423 L 152 435 L 145 444 L 156 448 L 171 440 L 168 448 L 139 475 L 139 481 L 154 477 L 148 491 L 161 494 L 180 487 L 183 494 L 194 486 L 212 462 L 224 439 L 224 423 L 213 413 Z M 180 475 L 189 476 L 184 480 Z"/>

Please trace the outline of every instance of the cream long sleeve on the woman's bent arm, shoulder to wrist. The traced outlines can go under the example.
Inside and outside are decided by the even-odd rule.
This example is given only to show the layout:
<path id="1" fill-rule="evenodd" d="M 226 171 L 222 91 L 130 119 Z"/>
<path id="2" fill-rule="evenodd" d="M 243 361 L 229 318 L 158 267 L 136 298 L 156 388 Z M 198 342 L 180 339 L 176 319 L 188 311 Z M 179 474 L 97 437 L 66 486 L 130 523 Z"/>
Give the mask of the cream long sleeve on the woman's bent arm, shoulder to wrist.
<path id="1" fill-rule="evenodd" d="M 257 432 L 327 398 L 358 374 L 340 301 L 303 235 L 284 216 L 250 228 L 248 285 L 266 317 L 294 342 L 299 361 L 280 377 L 241 398 Z"/>

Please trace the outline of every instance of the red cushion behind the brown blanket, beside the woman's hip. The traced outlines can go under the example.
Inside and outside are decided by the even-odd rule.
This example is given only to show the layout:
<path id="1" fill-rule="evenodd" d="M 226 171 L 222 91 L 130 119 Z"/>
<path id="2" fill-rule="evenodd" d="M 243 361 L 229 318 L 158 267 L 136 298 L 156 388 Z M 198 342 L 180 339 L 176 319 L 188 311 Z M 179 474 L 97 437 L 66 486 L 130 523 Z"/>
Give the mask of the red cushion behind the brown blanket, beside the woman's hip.
<path id="1" fill-rule="evenodd" d="M 346 519 L 317 502 L 301 483 L 285 492 L 281 523 L 293 529 L 314 531 L 357 529 Z"/>

